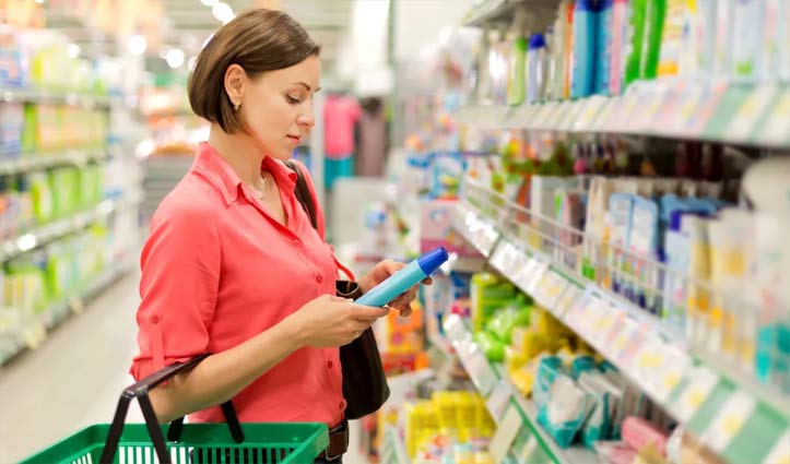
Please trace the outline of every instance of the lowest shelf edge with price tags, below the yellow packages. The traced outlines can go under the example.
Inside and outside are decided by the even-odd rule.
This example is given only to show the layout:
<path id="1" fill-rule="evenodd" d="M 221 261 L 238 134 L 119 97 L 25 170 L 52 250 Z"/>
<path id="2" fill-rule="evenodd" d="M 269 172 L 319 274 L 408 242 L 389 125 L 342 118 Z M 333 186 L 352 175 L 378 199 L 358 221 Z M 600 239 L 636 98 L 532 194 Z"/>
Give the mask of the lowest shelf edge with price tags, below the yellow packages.
<path id="1" fill-rule="evenodd" d="M 519 459 L 527 459 L 531 455 L 530 462 L 539 462 L 541 459 L 535 453 L 542 453 L 543 459 L 553 463 L 568 464 L 596 464 L 598 457 L 596 453 L 587 448 L 575 445 L 569 449 L 561 449 L 554 439 L 550 437 L 543 428 L 538 424 L 538 407 L 528 400 L 524 400 L 512 382 L 509 380 L 503 366 L 494 365 L 480 350 L 480 347 L 473 342 L 472 332 L 467 326 L 463 319 L 457 314 L 452 314 L 445 320 L 445 332 L 452 342 L 458 353 L 461 364 L 469 372 L 472 382 L 477 388 L 483 397 L 486 398 L 486 405 L 491 412 L 497 427 L 509 427 L 505 424 L 503 417 L 505 409 L 509 406 L 516 407 L 521 416 L 521 428 L 526 428 L 530 437 L 531 444 L 528 447 L 540 448 L 541 450 L 508 450 L 519 455 Z M 520 430 L 512 430 L 514 437 Z M 505 451 L 505 450 L 502 450 Z"/>

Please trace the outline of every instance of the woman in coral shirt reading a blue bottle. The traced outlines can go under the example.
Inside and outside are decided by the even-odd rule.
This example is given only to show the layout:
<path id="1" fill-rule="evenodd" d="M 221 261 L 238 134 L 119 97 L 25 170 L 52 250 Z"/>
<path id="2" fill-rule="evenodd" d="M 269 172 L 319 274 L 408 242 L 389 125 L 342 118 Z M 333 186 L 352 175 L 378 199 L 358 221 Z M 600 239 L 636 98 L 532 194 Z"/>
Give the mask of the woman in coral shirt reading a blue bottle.
<path id="1" fill-rule="evenodd" d="M 316 229 L 282 163 L 314 126 L 318 56 L 298 23 L 268 10 L 237 16 L 198 56 L 189 100 L 211 132 L 151 223 L 131 373 L 212 355 L 151 392 L 162 423 L 222 421 L 216 405 L 233 398 L 241 421 L 321 421 L 347 433 L 338 347 L 388 309 L 333 296 L 338 264 L 322 212 Z M 359 286 L 401 266 L 381 262 Z M 414 296 L 391 307 L 406 316 Z M 345 450 L 330 451 L 325 457 Z"/>

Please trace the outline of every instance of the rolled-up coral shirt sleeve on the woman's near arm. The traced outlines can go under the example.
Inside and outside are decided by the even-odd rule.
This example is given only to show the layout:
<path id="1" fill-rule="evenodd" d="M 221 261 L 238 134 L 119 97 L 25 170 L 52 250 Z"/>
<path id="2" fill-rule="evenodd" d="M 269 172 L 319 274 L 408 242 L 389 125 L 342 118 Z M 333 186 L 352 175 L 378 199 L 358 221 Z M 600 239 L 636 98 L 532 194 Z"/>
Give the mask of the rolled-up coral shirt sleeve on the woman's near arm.
<path id="1" fill-rule="evenodd" d="M 165 201 L 141 255 L 139 355 L 130 368 L 137 380 L 208 352 L 220 269 L 211 213 Z"/>

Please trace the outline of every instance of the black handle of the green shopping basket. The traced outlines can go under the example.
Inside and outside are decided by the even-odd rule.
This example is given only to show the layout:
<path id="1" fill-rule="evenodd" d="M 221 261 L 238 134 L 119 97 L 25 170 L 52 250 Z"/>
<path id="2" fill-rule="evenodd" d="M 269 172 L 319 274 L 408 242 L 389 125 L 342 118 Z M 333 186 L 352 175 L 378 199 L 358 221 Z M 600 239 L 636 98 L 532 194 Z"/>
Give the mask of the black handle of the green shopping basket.
<path id="1" fill-rule="evenodd" d="M 209 354 L 197 356 L 186 362 L 178 362 L 172 366 L 167 366 L 164 369 L 160 369 L 156 372 L 148 376 L 139 382 L 127 386 L 118 400 L 118 407 L 115 409 L 115 417 L 113 418 L 113 425 L 109 427 L 107 433 L 107 440 L 102 450 L 102 457 L 99 463 L 111 464 L 115 461 L 115 455 L 118 452 L 118 443 L 120 442 L 120 436 L 123 432 L 123 425 L 126 423 L 126 416 L 129 412 L 129 404 L 133 398 L 138 398 L 140 403 L 140 409 L 142 409 L 143 417 L 145 418 L 145 427 L 151 436 L 151 441 L 154 444 L 154 450 L 160 459 L 161 464 L 170 464 L 170 455 L 167 453 L 167 447 L 165 445 L 165 438 L 162 435 L 156 413 L 151 405 L 151 398 L 149 398 L 149 391 L 168 379 L 188 370 L 193 369 L 200 361 L 209 357 Z M 241 425 L 238 421 L 236 409 L 233 407 L 233 402 L 227 401 L 222 404 L 222 412 L 225 414 L 225 420 L 227 427 L 231 429 L 231 436 L 236 443 L 244 441 L 244 431 Z M 167 431 L 167 438 L 170 441 L 178 441 L 181 436 L 184 428 L 184 417 L 170 423 L 170 427 Z"/>

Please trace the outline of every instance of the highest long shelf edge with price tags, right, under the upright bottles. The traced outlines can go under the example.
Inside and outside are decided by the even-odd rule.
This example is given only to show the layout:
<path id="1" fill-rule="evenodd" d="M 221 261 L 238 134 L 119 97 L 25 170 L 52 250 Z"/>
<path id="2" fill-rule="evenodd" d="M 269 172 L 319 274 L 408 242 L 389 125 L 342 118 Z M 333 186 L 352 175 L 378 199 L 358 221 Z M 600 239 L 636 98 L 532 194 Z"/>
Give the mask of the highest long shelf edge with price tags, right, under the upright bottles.
<path id="1" fill-rule="evenodd" d="M 482 128 L 621 133 L 790 147 L 790 86 L 639 82 L 625 95 L 516 107 L 467 107 Z"/>

